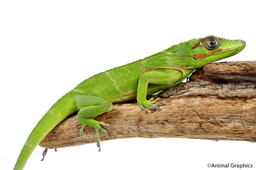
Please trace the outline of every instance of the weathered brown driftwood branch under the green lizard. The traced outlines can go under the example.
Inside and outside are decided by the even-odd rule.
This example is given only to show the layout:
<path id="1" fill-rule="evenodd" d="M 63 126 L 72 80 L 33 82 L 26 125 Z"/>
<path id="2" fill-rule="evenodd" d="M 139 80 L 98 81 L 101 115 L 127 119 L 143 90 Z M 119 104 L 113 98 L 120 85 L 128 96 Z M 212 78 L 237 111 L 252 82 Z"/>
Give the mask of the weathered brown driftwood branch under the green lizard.
<path id="1" fill-rule="evenodd" d="M 115 104 L 97 116 L 110 138 L 182 137 L 210 140 L 256 141 L 256 61 L 207 64 L 180 83 L 158 94 L 163 106 L 143 113 L 136 101 Z M 155 96 L 157 97 L 157 96 Z M 96 142 L 95 129 L 84 128 L 76 115 L 56 126 L 41 141 L 44 148 L 70 147 Z"/>

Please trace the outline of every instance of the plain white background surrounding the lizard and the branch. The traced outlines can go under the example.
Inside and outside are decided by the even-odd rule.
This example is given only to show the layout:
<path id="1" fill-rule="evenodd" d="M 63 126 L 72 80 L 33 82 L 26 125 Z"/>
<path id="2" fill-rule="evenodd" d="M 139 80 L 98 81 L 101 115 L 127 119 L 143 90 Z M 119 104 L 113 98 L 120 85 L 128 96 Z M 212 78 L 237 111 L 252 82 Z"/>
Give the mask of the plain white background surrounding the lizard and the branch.
<path id="1" fill-rule="evenodd" d="M 254 60 L 254 10 L 253 1 L 1 1 L 0 169 L 13 168 L 62 95 L 98 72 L 207 35 L 246 41 L 244 51 L 222 61 Z M 44 149 L 37 147 L 25 169 L 256 169 L 256 143 L 245 141 L 132 138 L 103 141 L 101 149 L 49 150 L 40 161 Z"/>

